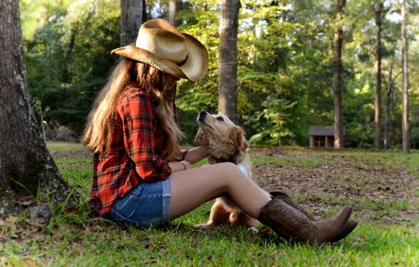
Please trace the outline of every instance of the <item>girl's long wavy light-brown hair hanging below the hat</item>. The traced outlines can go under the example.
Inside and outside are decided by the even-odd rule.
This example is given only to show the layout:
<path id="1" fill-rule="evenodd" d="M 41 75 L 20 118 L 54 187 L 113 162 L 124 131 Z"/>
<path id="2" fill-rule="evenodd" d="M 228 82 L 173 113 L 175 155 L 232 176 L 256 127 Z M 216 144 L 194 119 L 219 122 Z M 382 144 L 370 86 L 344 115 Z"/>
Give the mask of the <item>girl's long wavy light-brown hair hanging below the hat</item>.
<path id="1" fill-rule="evenodd" d="M 183 138 L 183 133 L 176 124 L 172 99 L 174 89 L 164 87 L 164 72 L 155 67 L 138 63 L 129 58 L 121 58 L 115 65 L 107 84 L 103 87 L 95 100 L 89 114 L 82 141 L 91 152 L 108 153 L 112 141 L 116 116 L 117 101 L 125 86 L 130 81 L 137 81 L 138 85 L 146 89 L 156 103 L 155 115 L 157 122 L 165 131 L 166 149 L 162 157 L 168 161 L 180 159 L 181 153 L 177 146 Z M 170 100 L 169 100 L 170 99 Z"/>

